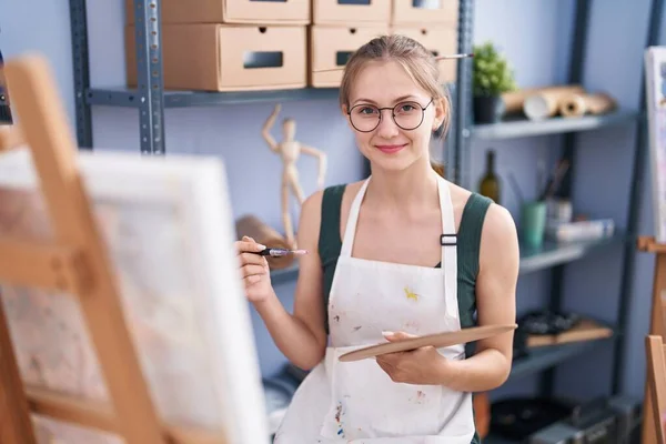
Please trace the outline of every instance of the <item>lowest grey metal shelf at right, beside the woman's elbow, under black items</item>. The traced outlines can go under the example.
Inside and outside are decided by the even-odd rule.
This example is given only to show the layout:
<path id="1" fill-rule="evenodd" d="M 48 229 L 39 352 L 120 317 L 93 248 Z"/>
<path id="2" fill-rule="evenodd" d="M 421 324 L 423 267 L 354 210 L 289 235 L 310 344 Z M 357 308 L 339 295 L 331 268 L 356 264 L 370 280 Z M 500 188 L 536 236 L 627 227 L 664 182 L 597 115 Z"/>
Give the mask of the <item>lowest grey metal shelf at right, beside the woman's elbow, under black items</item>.
<path id="1" fill-rule="evenodd" d="M 528 355 L 514 360 L 508 381 L 553 367 L 571 357 L 584 354 L 601 344 L 615 341 L 617 333 L 614 333 L 610 337 L 599 340 L 571 342 L 567 344 L 531 349 Z"/>

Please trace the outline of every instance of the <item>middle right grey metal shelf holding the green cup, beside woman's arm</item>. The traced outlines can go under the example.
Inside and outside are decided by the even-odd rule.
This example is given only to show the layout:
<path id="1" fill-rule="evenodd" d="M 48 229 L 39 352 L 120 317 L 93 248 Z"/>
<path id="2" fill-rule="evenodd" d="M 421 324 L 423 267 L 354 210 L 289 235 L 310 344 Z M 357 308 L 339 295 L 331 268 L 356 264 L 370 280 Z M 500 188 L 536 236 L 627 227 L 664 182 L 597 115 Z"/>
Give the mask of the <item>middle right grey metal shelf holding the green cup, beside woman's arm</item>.
<path id="1" fill-rule="evenodd" d="M 627 235 L 614 235 L 596 241 L 557 243 L 545 241 L 538 249 L 521 245 L 521 274 L 572 262 L 597 249 L 628 242 Z"/>

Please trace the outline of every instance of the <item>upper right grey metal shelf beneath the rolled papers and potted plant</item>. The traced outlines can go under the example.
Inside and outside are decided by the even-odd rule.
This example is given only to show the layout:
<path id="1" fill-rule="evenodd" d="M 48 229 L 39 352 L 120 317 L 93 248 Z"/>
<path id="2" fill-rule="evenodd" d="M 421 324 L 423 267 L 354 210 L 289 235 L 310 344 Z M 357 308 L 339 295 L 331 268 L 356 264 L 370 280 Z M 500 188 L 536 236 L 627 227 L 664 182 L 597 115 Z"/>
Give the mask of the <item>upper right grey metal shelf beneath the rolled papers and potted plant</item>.
<path id="1" fill-rule="evenodd" d="M 636 121 L 640 115 L 637 111 L 618 110 L 604 115 L 585 115 L 582 118 L 551 118 L 532 121 L 525 118 L 512 118 L 498 123 L 476 124 L 472 127 L 475 139 L 497 140 L 525 138 L 532 135 L 556 134 L 574 131 L 588 131 Z"/>

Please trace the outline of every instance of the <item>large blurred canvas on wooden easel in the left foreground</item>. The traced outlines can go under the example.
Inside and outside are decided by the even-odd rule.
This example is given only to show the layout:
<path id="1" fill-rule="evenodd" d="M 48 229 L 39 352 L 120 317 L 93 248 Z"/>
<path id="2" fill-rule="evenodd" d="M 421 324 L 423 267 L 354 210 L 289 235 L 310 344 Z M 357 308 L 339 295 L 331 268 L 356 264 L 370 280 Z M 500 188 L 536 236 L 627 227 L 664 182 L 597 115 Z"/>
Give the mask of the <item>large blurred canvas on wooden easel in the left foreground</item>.
<path id="1" fill-rule="evenodd" d="M 223 163 L 77 152 L 46 62 L 6 68 L 0 353 L 37 441 L 268 442 Z"/>

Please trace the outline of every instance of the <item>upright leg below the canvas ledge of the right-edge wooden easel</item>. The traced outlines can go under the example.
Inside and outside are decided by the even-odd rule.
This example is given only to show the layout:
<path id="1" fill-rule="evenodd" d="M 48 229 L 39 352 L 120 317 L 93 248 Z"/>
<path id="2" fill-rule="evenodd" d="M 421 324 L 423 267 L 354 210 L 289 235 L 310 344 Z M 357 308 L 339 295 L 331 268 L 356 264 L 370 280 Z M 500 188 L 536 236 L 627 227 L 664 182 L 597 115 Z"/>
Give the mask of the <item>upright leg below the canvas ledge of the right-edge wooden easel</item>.
<path id="1" fill-rule="evenodd" d="M 662 291 L 666 291 L 666 253 L 656 253 L 655 276 L 653 280 L 653 301 L 652 315 L 649 322 L 649 334 L 664 335 L 664 302 L 662 301 Z M 645 381 L 645 398 L 643 401 L 643 444 L 659 444 L 657 443 L 657 433 L 652 418 L 652 391 L 647 379 Z"/>

